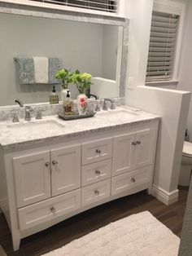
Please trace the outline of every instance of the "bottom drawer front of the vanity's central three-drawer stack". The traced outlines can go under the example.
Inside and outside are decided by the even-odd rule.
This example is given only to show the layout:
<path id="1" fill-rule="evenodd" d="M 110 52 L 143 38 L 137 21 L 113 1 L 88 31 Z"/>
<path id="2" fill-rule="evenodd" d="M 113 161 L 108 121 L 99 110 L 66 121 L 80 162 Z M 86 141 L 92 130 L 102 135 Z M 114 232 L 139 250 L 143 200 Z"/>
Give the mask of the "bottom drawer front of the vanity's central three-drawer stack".
<path id="1" fill-rule="evenodd" d="M 110 196 L 111 179 L 81 188 L 81 205 L 89 205 Z"/>

